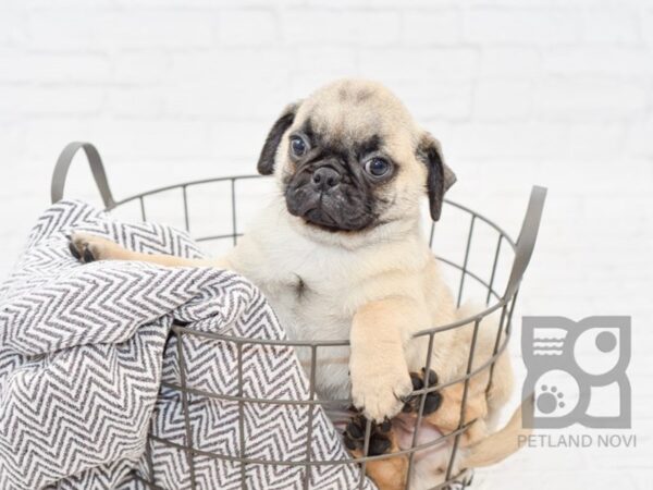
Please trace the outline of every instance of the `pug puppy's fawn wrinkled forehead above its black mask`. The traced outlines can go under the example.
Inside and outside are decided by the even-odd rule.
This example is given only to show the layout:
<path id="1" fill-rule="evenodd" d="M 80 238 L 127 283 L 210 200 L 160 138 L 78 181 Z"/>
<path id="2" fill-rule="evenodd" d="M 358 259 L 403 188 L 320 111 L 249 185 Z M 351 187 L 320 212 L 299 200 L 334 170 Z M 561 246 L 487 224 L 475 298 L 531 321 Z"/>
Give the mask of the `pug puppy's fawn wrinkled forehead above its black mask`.
<path id="1" fill-rule="evenodd" d="M 404 106 L 389 93 L 367 86 L 329 87 L 301 103 L 295 131 L 315 143 L 362 150 L 409 144 L 414 125 Z"/>

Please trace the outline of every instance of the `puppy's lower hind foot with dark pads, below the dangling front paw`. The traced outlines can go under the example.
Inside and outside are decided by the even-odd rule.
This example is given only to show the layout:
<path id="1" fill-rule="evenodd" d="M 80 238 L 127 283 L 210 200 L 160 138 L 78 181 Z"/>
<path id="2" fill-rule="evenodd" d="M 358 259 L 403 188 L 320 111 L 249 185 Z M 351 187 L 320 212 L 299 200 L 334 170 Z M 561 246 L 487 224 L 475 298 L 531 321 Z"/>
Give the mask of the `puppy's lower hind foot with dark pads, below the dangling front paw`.
<path id="1" fill-rule="evenodd" d="M 362 415 L 352 418 L 345 429 L 345 445 L 354 457 L 365 456 L 365 430 L 367 419 Z M 396 436 L 390 420 L 382 424 L 371 422 L 368 456 L 396 453 L 399 450 Z M 370 461 L 366 464 L 366 474 L 380 490 L 403 490 L 408 471 L 408 457 L 391 456 Z"/>

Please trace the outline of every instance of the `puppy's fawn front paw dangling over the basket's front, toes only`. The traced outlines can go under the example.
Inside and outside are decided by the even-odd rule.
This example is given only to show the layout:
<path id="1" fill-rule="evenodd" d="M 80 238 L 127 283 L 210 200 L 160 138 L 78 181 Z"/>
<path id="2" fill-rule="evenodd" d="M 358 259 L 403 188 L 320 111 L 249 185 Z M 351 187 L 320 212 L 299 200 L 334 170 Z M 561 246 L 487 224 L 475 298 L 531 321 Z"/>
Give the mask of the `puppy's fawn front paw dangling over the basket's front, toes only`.
<path id="1" fill-rule="evenodd" d="M 404 363 L 380 366 L 379 362 L 352 363 L 352 400 L 354 406 L 377 422 L 392 418 L 412 392 L 412 383 Z M 384 369 L 383 369 L 384 368 Z"/>

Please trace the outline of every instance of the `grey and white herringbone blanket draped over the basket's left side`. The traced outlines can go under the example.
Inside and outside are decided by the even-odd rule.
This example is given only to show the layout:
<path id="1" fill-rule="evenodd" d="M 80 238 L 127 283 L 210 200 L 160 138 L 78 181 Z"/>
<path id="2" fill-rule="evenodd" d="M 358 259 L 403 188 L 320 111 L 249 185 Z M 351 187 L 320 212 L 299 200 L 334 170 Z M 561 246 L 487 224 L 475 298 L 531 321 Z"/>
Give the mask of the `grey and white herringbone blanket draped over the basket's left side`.
<path id="1" fill-rule="evenodd" d="M 229 340 L 169 335 L 175 320 L 195 331 L 285 339 L 247 280 L 210 268 L 82 265 L 67 248 L 73 230 L 139 252 L 201 256 L 183 232 L 121 223 L 78 201 L 61 201 L 39 218 L 0 286 L 1 489 L 147 488 L 141 479 L 174 490 L 299 489 L 305 468 L 261 461 L 347 457 L 321 407 L 312 409 L 307 449 L 309 406 L 241 406 L 204 394 L 308 400 L 291 347 L 244 344 L 239 352 Z M 186 399 L 173 388 L 180 367 L 197 390 Z M 354 489 L 360 471 L 313 465 L 308 478 L 311 489 Z"/>

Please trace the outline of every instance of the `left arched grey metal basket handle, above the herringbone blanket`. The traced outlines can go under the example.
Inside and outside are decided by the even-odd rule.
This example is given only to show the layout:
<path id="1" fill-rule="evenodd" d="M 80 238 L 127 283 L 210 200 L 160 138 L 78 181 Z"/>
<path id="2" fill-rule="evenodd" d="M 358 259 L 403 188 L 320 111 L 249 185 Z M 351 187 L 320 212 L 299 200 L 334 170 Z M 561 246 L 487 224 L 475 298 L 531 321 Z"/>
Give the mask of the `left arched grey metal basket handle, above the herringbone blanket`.
<path id="1" fill-rule="evenodd" d="M 93 172 L 93 177 L 96 181 L 96 185 L 98 186 L 100 195 L 102 196 L 104 207 L 112 208 L 113 206 L 115 206 L 115 200 L 113 199 L 113 195 L 111 194 L 109 181 L 107 181 L 107 173 L 104 172 L 102 159 L 100 158 L 100 154 L 98 152 L 97 148 L 90 143 L 86 142 L 69 143 L 57 159 L 57 164 L 54 166 L 54 173 L 52 174 L 52 185 L 50 186 L 50 196 L 52 198 L 52 204 L 59 203 L 63 198 L 63 188 L 65 187 L 65 179 L 67 176 L 67 171 L 73 161 L 73 157 L 79 150 L 79 148 L 83 148 L 84 152 L 86 154 L 86 159 L 88 160 L 88 164 L 90 166 L 90 170 Z"/>

